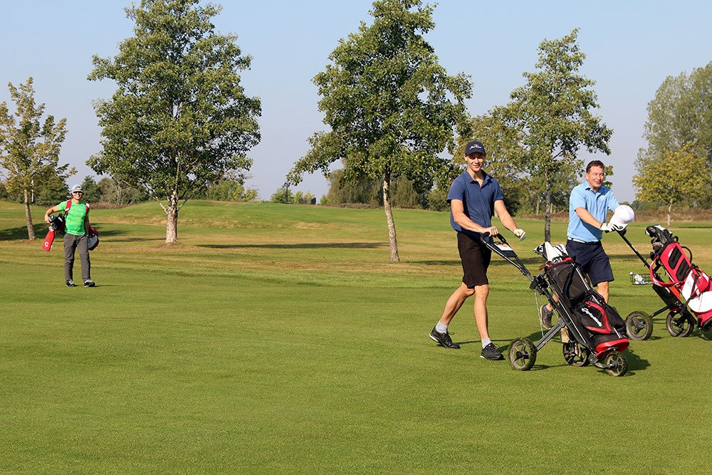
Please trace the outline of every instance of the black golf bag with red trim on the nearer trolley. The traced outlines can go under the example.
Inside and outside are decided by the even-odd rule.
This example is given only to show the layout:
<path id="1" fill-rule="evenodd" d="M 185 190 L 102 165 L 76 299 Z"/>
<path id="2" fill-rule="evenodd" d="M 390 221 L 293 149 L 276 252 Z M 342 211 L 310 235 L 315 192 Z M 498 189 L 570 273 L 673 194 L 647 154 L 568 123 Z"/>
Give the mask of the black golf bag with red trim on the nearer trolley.
<path id="1" fill-rule="evenodd" d="M 574 259 L 561 256 L 546 263 L 543 271 L 558 298 L 555 308 L 571 320 L 568 333 L 572 338 L 590 348 L 597 358 L 611 350 L 628 348 L 624 320 L 588 285 Z"/>

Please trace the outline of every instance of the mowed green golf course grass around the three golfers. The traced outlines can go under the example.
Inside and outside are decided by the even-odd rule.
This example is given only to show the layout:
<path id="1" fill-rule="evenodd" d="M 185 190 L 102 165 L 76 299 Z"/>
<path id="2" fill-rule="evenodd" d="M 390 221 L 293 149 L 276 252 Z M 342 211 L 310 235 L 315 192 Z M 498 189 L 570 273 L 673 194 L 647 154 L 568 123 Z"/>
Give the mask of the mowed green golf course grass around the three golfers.
<path id="1" fill-rule="evenodd" d="M 188 202 L 174 246 L 156 204 L 95 209 L 98 286 L 66 288 L 61 241 L 42 251 L 0 203 L 0 473 L 708 471 L 707 335 L 673 338 L 663 314 L 624 377 L 568 366 L 558 339 L 518 372 L 479 357 L 468 302 L 461 350 L 440 348 L 427 335 L 461 278 L 449 214 L 394 214 L 398 264 L 379 209 Z M 518 224 L 535 272 L 543 221 Z M 647 224 L 627 234 L 644 254 Z M 708 271 L 711 229 L 672 227 Z M 632 251 L 604 245 L 619 312 L 660 308 L 629 283 Z M 490 279 L 496 344 L 539 338 L 528 281 L 497 256 Z"/>

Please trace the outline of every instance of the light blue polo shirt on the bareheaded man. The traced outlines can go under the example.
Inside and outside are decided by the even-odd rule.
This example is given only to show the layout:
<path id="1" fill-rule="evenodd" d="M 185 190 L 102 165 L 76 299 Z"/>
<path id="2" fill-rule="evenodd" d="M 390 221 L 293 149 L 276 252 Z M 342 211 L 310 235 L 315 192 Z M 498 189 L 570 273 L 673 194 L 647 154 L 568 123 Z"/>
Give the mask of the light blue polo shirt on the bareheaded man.
<path id="1" fill-rule="evenodd" d="M 609 188 L 602 186 L 595 193 L 587 182 L 577 185 L 571 190 L 569 198 L 569 227 L 566 235 L 569 239 L 585 242 L 600 241 L 603 231 L 581 221 L 576 214 L 576 208 L 585 208 L 595 219 L 604 223 L 608 210 L 615 211 L 617 207 L 618 200 Z"/>

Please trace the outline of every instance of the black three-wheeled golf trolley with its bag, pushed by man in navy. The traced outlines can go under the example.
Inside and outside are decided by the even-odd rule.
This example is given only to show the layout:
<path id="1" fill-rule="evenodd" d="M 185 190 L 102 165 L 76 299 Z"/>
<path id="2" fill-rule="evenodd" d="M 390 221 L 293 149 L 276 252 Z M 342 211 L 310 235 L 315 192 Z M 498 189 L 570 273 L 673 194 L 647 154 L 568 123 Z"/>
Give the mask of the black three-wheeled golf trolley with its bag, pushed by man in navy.
<path id="1" fill-rule="evenodd" d="M 484 246 L 511 263 L 530 281 L 529 288 L 543 295 L 559 314 L 553 328 L 533 343 L 529 338 L 514 340 L 508 359 L 513 369 L 530 370 L 537 353 L 560 333 L 564 360 L 571 366 L 589 364 L 605 370 L 609 375 L 622 376 L 628 370 L 627 357 L 622 353 L 629 340 L 625 323 L 615 308 L 607 305 L 600 293 L 591 288 L 575 260 L 565 254 L 562 246 L 548 242 L 534 252 L 546 263 L 533 276 L 501 234 L 481 236 Z"/>

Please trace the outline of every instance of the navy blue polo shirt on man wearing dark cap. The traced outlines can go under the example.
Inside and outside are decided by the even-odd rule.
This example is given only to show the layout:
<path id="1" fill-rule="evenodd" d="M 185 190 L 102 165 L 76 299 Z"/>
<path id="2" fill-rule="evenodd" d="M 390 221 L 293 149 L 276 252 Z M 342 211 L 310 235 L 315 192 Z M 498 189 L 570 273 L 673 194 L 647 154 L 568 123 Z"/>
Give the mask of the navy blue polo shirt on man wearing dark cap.
<path id="1" fill-rule="evenodd" d="M 447 202 L 453 199 L 461 199 L 465 215 L 474 223 L 486 228 L 492 226 L 492 216 L 494 216 L 494 202 L 498 199 L 504 199 L 504 194 L 499 186 L 497 179 L 484 173 L 482 187 L 470 177 L 470 174 L 465 170 L 462 174 L 454 179 L 450 185 L 450 192 L 447 194 Z M 473 231 L 462 229 L 455 222 L 452 211 L 450 211 L 450 226 L 452 229 L 459 232 L 464 232 L 474 239 L 479 239 L 480 234 Z"/>

